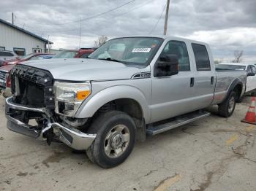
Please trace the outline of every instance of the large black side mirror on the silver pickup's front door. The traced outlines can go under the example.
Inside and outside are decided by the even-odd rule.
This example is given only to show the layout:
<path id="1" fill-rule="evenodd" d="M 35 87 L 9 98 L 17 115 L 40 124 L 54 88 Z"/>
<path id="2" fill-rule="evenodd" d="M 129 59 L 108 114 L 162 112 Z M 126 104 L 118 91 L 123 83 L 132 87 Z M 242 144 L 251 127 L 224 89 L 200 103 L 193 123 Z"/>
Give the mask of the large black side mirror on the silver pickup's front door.
<path id="1" fill-rule="evenodd" d="M 178 74 L 178 57 L 176 55 L 160 55 L 154 65 L 154 77 L 169 77 L 176 74 Z"/>

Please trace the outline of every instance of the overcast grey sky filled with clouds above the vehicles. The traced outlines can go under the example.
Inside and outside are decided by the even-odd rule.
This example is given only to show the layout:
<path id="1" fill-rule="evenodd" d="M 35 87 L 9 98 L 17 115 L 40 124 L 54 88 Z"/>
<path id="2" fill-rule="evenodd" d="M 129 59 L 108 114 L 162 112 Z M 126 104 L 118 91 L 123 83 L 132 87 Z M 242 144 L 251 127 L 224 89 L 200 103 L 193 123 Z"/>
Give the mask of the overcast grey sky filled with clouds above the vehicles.
<path id="1" fill-rule="evenodd" d="M 77 48 L 82 21 L 81 47 L 93 47 L 97 36 L 149 34 L 156 26 L 166 0 L 4 0 L 1 19 L 52 41 L 53 48 Z M 165 12 L 151 34 L 162 34 Z M 244 60 L 256 61 L 255 0 L 170 0 L 167 35 L 208 42 L 214 58 L 231 59 L 244 50 Z"/>

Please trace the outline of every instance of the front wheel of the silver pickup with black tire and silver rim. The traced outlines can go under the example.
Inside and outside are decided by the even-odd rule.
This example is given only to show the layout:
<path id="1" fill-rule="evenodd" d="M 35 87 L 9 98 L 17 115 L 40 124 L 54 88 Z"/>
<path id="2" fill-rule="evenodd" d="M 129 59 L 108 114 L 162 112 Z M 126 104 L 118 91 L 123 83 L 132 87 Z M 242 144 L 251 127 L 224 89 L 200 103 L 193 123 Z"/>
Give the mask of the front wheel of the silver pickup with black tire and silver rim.
<path id="1" fill-rule="evenodd" d="M 86 154 L 92 163 L 113 168 L 129 157 L 135 145 L 136 126 L 132 117 L 119 111 L 101 114 L 87 133 L 97 134 Z"/>

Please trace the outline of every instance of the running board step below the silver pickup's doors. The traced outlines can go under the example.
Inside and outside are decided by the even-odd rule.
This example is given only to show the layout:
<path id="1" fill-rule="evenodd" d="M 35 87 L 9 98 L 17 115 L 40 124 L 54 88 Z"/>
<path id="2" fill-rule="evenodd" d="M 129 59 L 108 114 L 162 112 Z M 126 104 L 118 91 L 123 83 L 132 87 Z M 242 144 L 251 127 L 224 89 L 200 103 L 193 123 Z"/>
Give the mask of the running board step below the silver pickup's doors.
<path id="1" fill-rule="evenodd" d="M 209 112 L 192 112 L 189 114 L 183 114 L 181 116 L 175 117 L 172 120 L 165 120 L 162 122 L 155 122 L 151 125 L 148 125 L 146 133 L 148 135 L 154 136 L 158 133 L 165 132 L 173 128 L 177 128 L 181 125 L 185 125 L 189 122 L 193 122 L 204 117 L 208 117 L 211 113 Z"/>

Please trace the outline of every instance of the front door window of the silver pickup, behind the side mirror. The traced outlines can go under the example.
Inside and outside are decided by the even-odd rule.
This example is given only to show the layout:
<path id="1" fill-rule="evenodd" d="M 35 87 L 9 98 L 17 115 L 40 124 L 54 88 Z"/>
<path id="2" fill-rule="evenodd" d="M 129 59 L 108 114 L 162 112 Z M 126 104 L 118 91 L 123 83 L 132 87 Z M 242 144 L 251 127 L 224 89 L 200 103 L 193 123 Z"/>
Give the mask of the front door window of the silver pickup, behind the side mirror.
<path id="1" fill-rule="evenodd" d="M 190 71 L 189 54 L 185 42 L 167 42 L 160 56 L 165 55 L 176 55 L 178 57 L 178 71 Z"/>

